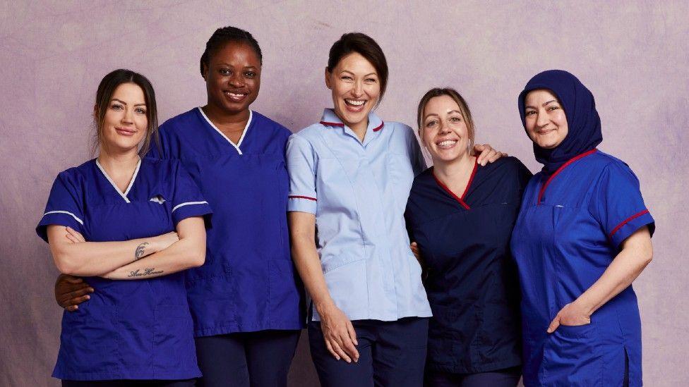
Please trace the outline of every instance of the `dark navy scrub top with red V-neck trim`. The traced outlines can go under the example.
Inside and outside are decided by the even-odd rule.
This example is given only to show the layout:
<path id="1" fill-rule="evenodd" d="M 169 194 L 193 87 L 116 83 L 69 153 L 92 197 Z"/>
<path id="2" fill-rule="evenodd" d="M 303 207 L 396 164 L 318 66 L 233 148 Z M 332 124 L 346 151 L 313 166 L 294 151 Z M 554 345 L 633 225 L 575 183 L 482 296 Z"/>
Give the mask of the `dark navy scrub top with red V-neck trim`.
<path id="1" fill-rule="evenodd" d="M 518 159 L 505 157 L 474 164 L 461 197 L 433 168 L 414 179 L 405 217 L 428 274 L 430 369 L 467 374 L 521 364 L 510 235 L 531 176 Z"/>

